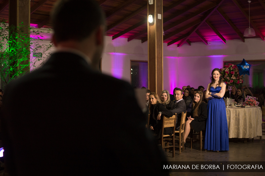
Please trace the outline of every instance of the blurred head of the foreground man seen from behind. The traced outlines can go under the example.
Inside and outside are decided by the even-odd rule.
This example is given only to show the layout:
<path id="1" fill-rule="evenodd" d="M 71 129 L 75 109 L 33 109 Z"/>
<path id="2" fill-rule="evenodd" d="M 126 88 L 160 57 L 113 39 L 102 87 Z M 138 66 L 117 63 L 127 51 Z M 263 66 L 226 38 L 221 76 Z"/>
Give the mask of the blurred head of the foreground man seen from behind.
<path id="1" fill-rule="evenodd" d="M 105 16 L 95 0 L 59 0 L 51 12 L 54 45 L 81 51 L 99 64 L 103 50 Z M 74 22 L 71 31 L 69 23 Z"/>

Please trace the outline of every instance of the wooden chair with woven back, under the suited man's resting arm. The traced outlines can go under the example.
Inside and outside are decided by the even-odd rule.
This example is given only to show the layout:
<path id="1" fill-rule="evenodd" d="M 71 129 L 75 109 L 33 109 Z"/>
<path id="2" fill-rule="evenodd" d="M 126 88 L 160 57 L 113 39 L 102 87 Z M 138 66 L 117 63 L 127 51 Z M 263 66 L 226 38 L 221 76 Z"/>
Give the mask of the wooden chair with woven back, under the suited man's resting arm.
<path id="1" fill-rule="evenodd" d="M 176 118 L 177 118 L 177 114 L 173 115 L 172 117 L 164 116 L 162 128 L 161 128 L 161 138 L 160 138 L 161 146 L 163 149 L 172 147 L 173 148 L 172 157 L 175 157 L 175 133 L 173 133 L 171 136 L 170 135 L 164 135 L 163 133 L 164 133 L 164 128 L 167 128 L 167 127 L 173 127 L 173 131 L 175 131 Z M 172 139 L 171 139 L 172 145 L 165 146 L 165 142 L 168 142 L 164 139 L 165 137 L 172 137 Z M 168 144 L 169 144 L 169 142 L 168 142 Z"/>

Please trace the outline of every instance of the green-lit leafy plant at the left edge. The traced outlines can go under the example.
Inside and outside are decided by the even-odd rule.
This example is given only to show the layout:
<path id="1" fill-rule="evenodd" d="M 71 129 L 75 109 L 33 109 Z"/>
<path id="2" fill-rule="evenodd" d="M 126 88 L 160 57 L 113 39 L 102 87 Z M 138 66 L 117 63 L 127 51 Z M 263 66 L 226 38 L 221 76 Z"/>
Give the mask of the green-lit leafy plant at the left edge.
<path id="1" fill-rule="evenodd" d="M 25 31 L 29 29 L 29 33 Z M 34 30 L 24 26 L 8 26 L 4 19 L 0 20 L 0 76 L 1 87 L 10 81 L 36 69 L 51 55 L 51 44 L 40 44 L 44 34 L 49 33 Z M 33 57 L 31 53 L 42 53 L 42 58 Z M 37 65 L 39 62 L 40 65 Z"/>

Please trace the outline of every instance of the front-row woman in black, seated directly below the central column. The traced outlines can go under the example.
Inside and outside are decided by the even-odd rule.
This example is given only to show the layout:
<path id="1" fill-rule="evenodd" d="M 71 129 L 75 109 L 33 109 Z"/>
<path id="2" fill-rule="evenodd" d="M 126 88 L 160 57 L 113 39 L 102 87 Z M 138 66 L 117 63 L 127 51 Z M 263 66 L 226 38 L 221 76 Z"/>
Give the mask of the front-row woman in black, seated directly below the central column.
<path id="1" fill-rule="evenodd" d="M 149 128 L 155 131 L 157 139 L 159 139 L 161 135 L 161 127 L 163 121 L 163 118 L 159 120 L 157 119 L 159 112 L 163 111 L 163 115 L 168 117 L 172 117 L 174 114 L 168 109 L 166 109 L 165 105 L 162 104 L 162 102 L 158 98 L 158 95 L 155 92 L 151 92 L 149 95 L 149 111 L 150 111 Z M 173 128 L 172 127 L 164 128 L 164 134 L 172 135 Z"/>

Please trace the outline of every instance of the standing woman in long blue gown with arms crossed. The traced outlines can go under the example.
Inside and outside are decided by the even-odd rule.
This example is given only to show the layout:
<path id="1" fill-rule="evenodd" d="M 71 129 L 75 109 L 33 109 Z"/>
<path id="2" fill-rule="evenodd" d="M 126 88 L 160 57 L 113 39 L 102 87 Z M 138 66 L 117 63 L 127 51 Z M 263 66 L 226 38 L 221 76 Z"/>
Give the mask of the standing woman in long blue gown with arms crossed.
<path id="1" fill-rule="evenodd" d="M 229 150 L 226 105 L 223 101 L 225 90 L 226 83 L 222 82 L 221 71 L 218 68 L 213 69 L 205 96 L 209 99 L 204 142 L 206 150 Z"/>

